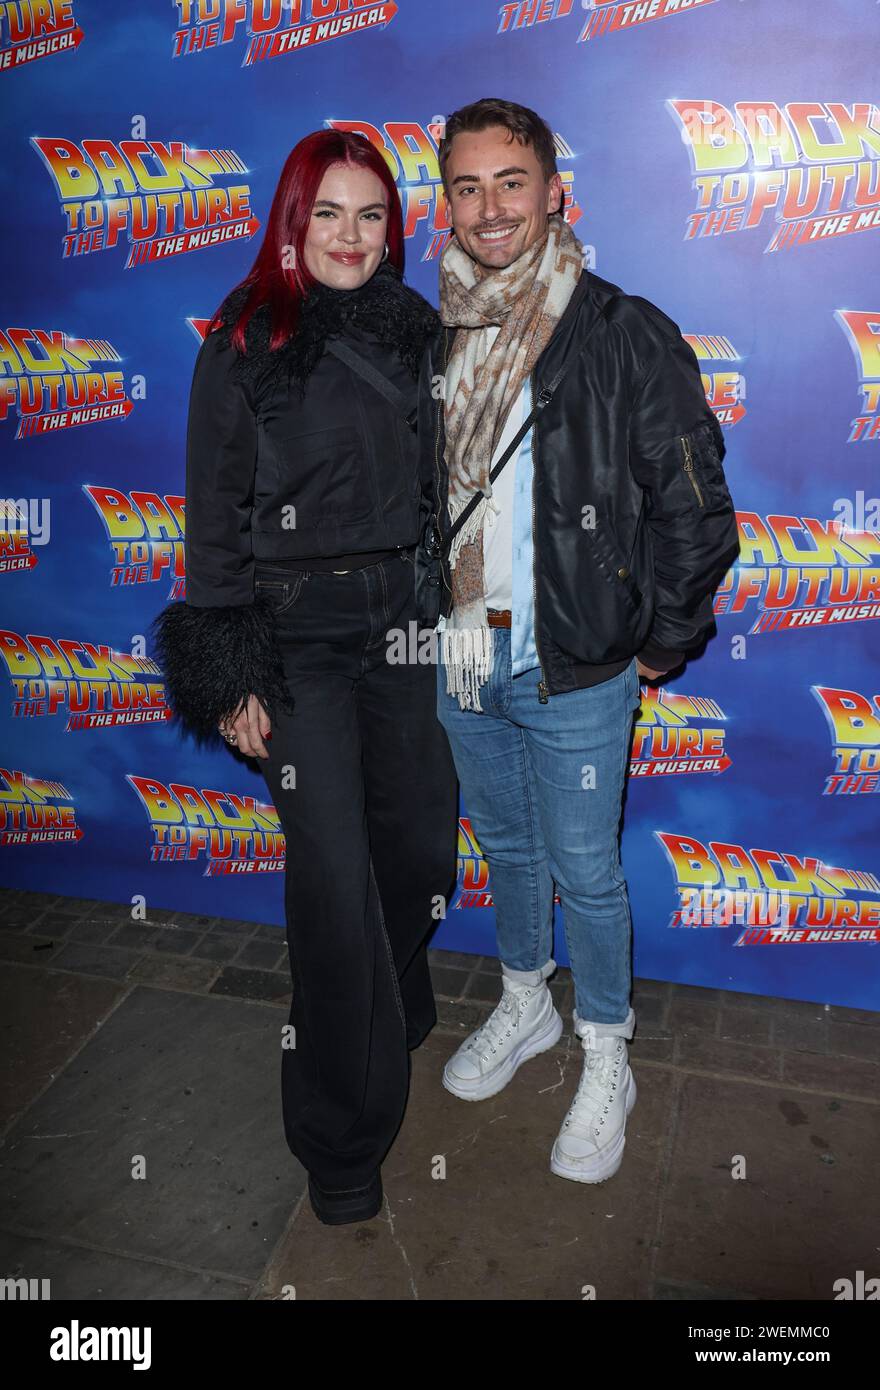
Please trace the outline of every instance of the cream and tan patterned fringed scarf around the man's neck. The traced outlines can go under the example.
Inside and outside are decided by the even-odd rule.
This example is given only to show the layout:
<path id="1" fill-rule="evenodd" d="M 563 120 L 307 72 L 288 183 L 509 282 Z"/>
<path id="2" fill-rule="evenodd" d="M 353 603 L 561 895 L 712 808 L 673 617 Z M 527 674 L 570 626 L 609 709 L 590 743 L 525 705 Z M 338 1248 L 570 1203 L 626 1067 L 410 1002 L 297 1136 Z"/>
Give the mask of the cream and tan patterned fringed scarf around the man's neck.
<path id="1" fill-rule="evenodd" d="M 489 468 L 510 409 L 581 277 L 582 247 L 559 213 L 546 234 L 502 270 L 488 271 L 452 236 L 441 257 L 439 309 L 457 328 L 443 382 L 449 520 L 484 496 L 452 542 L 452 612 L 442 631 L 446 689 L 462 709 L 481 709 L 492 671 L 482 527 L 492 506 Z M 488 328 L 500 331 L 489 348 Z M 507 467 L 513 467 L 513 459 Z"/>

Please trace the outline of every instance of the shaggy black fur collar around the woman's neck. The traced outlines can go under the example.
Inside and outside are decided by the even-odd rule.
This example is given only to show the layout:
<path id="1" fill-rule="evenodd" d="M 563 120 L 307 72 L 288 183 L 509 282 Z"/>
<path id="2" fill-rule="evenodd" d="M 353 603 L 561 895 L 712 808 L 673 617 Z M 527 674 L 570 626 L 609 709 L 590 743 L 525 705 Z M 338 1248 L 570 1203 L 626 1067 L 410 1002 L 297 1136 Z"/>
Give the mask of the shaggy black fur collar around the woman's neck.
<path id="1" fill-rule="evenodd" d="M 238 286 L 221 306 L 224 325 L 217 329 L 229 342 L 232 324 L 247 299 L 250 286 Z M 309 374 L 324 352 L 327 338 L 343 334 L 373 338 L 396 348 L 413 379 L 427 341 L 437 332 L 439 317 L 417 291 L 403 284 L 400 272 L 384 261 L 359 289 L 316 285 L 304 300 L 296 332 L 270 352 L 270 311 L 261 304 L 245 331 L 246 353 L 239 353 L 234 373 L 250 385 L 271 388 L 285 375 L 306 389 Z"/>

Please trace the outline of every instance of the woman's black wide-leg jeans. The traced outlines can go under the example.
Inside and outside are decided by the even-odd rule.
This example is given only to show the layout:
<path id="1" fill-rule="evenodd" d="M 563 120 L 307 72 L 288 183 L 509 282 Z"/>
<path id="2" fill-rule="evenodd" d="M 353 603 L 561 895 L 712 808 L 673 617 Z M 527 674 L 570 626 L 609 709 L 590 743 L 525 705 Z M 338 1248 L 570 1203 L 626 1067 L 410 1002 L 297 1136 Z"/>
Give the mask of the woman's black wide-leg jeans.
<path id="1" fill-rule="evenodd" d="M 361 1187 L 437 1022 L 427 937 L 456 881 L 455 766 L 412 639 L 412 550 L 346 574 L 257 562 L 256 585 L 293 696 L 259 759 L 286 841 L 285 1137 L 321 1187 Z"/>

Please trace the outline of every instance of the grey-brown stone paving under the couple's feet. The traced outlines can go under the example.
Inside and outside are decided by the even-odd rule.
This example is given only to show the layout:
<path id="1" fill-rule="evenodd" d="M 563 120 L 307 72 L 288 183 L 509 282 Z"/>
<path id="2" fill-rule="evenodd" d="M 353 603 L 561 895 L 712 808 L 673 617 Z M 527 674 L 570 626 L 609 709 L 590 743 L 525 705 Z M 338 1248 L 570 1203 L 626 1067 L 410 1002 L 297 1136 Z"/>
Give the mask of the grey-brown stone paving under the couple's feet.
<path id="1" fill-rule="evenodd" d="M 624 1162 L 584 1186 L 549 1172 L 569 972 L 557 1047 L 464 1104 L 441 1072 L 498 960 L 432 951 L 384 1209 L 334 1229 L 281 1129 L 279 927 L 6 891 L 0 959 L 0 1275 L 56 1300 L 830 1300 L 880 1273 L 880 1013 L 637 980 Z"/>

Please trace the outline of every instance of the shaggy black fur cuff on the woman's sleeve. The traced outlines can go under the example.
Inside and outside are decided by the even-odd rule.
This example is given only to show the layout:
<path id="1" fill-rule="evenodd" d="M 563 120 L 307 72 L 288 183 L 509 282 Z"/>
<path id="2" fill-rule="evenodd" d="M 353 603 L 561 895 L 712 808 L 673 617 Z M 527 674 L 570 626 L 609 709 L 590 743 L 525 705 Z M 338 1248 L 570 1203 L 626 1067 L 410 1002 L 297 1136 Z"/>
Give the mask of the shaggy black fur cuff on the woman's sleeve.
<path id="1" fill-rule="evenodd" d="M 292 712 L 272 610 L 253 603 L 195 607 L 168 603 L 152 623 L 168 705 L 196 744 L 220 739 L 218 724 L 256 695 L 270 719 Z"/>

